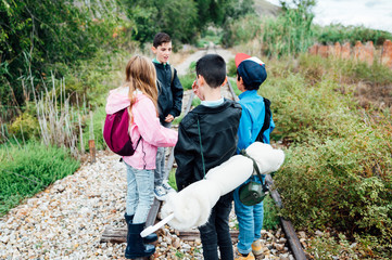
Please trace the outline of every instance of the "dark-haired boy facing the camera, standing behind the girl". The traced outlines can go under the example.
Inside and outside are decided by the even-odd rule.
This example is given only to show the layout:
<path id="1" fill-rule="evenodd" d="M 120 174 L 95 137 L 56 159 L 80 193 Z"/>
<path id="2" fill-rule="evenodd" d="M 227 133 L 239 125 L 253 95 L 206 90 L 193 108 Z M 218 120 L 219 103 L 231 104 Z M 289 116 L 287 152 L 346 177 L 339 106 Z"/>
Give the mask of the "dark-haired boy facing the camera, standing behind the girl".
<path id="1" fill-rule="evenodd" d="M 157 78 L 157 106 L 161 125 L 170 128 L 175 117 L 181 114 L 182 86 L 177 77 L 177 70 L 168 64 L 172 54 L 172 39 L 165 32 L 154 37 L 152 51 L 155 58 L 152 61 Z M 159 147 L 156 152 L 156 168 L 154 170 L 154 194 L 163 200 L 166 193 L 174 191 L 165 178 L 165 148 Z"/>

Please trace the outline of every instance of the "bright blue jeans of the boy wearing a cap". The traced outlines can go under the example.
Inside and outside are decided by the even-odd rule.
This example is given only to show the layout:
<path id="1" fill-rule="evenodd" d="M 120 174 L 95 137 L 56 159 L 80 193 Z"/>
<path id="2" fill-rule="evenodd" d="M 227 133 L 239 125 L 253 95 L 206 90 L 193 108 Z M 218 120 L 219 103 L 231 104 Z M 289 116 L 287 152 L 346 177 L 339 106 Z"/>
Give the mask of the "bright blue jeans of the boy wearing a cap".
<path id="1" fill-rule="evenodd" d="M 251 180 L 261 183 L 258 177 L 253 176 L 244 183 Z M 263 202 L 254 206 L 245 206 L 240 202 L 239 190 L 237 187 L 233 193 L 235 210 L 239 224 L 240 234 L 238 235 L 238 251 L 240 253 L 249 253 L 252 251 L 252 243 L 261 236 L 264 218 Z"/>

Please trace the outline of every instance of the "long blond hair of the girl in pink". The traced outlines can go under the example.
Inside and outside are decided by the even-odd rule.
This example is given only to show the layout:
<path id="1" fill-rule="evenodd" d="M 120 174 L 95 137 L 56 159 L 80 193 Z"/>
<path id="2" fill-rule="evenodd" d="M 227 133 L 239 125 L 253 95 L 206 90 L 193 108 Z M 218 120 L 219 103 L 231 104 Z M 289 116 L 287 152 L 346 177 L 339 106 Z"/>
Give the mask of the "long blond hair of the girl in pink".
<path id="1" fill-rule="evenodd" d="M 140 90 L 155 105 L 157 110 L 156 72 L 152 62 L 140 55 L 132 56 L 125 68 L 125 81 L 129 87 L 129 112 L 136 102 L 135 91 Z"/>

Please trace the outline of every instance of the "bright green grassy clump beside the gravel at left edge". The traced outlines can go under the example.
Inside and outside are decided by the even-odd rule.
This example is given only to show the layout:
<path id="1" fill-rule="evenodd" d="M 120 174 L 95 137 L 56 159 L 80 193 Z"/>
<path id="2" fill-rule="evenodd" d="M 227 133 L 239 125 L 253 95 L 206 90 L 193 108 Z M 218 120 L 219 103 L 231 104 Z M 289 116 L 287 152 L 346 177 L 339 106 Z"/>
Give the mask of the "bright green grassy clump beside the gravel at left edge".
<path id="1" fill-rule="evenodd" d="M 0 216 L 22 199 L 75 172 L 79 161 L 64 148 L 28 143 L 23 148 L 5 143 L 0 147 Z"/>

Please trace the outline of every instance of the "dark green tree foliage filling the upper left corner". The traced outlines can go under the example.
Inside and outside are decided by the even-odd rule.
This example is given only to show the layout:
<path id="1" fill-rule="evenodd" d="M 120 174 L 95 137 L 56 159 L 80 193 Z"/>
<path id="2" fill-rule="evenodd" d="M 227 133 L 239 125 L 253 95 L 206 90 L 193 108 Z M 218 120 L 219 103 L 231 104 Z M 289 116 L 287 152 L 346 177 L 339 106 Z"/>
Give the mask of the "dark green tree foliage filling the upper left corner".
<path id="1" fill-rule="evenodd" d="M 117 44 L 115 29 L 131 26 L 121 18 L 118 4 L 0 1 L 0 104 L 24 104 L 31 98 L 31 81 L 40 92 L 46 75 L 58 72 L 61 77 L 63 65 L 89 58 L 103 44 Z"/>

